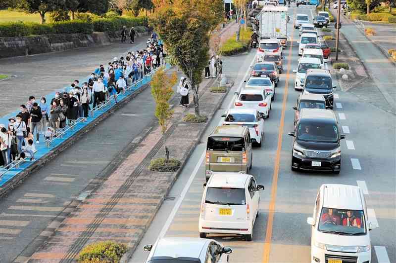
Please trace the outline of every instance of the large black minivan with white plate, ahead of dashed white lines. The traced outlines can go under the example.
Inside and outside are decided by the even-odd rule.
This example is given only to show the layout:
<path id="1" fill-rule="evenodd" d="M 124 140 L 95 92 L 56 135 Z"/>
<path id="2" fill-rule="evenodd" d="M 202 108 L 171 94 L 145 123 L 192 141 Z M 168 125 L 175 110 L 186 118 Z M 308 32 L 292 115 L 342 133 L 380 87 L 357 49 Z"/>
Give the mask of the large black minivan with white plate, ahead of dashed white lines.
<path id="1" fill-rule="evenodd" d="M 301 109 L 295 130 L 292 170 L 325 171 L 340 173 L 341 147 L 336 115 L 330 110 Z"/>

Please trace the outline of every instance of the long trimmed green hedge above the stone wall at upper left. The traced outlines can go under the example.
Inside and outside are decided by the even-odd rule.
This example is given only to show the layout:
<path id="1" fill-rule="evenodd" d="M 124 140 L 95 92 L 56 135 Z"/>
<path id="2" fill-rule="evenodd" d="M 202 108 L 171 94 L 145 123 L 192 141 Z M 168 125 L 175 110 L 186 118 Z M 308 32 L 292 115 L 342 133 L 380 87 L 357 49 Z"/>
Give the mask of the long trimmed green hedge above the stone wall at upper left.
<path id="1" fill-rule="evenodd" d="M 49 24 L 5 22 L 0 23 L 0 37 L 24 37 L 47 34 L 91 34 L 92 32 L 119 31 L 122 26 L 148 26 L 147 17 L 111 17 L 90 20 L 73 20 Z"/>

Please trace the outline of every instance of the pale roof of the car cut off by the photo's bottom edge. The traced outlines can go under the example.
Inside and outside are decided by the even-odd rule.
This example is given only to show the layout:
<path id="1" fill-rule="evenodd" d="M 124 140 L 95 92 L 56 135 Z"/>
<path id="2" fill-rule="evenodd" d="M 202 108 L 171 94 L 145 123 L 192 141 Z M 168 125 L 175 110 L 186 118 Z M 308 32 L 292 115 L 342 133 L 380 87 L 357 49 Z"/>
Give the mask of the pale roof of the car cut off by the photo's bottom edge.
<path id="1" fill-rule="evenodd" d="M 163 237 L 155 246 L 152 257 L 197 258 L 210 239 L 195 237 Z"/>

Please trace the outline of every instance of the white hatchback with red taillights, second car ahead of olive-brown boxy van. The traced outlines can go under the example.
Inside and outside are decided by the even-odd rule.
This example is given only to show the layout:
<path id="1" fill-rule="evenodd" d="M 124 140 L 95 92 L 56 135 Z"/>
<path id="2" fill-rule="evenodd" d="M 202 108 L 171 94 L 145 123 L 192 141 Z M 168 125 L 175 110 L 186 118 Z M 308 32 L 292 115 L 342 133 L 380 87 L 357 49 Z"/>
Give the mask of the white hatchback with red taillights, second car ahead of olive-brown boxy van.
<path id="1" fill-rule="evenodd" d="M 265 118 L 269 117 L 272 96 L 265 88 L 243 88 L 240 93 L 236 92 L 235 94 L 238 95 L 238 98 L 235 99 L 234 108 L 255 109 Z"/>

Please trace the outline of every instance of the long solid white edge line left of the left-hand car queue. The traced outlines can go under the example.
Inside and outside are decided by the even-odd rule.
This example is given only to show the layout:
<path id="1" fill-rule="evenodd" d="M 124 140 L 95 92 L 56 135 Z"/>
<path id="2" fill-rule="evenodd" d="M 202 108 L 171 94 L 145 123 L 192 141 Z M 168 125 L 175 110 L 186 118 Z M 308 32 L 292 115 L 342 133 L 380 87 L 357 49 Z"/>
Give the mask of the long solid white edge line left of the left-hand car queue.
<path id="1" fill-rule="evenodd" d="M 256 60 L 256 55 L 254 56 L 252 62 L 250 63 L 250 66 L 253 65 L 253 63 L 255 62 L 255 60 Z M 238 91 L 241 90 L 242 85 L 244 84 L 244 80 L 247 78 L 247 75 L 249 74 L 250 66 L 247 68 L 248 70 L 247 70 L 245 76 L 244 76 L 244 77 L 242 78 L 242 80 L 241 80 L 241 84 L 240 84 L 239 87 L 238 87 Z M 228 105 L 228 108 L 227 108 L 227 109 L 230 109 L 231 106 L 234 104 L 235 98 L 236 98 L 236 95 L 234 95 L 234 96 L 232 97 L 232 99 L 231 99 L 231 101 L 230 101 L 230 104 Z M 221 118 L 221 119 L 220 119 L 220 122 L 219 122 L 219 125 L 220 125 L 222 122 L 223 122 L 223 119 Z M 199 160 L 198 160 L 197 165 L 195 166 L 193 172 L 191 173 L 191 176 L 190 176 L 189 180 L 187 181 L 186 186 L 183 188 L 183 191 L 182 191 L 182 193 L 180 194 L 180 198 L 177 200 L 175 206 L 173 207 L 172 212 L 170 213 L 168 219 L 166 220 L 165 225 L 164 225 L 164 226 L 162 227 L 162 229 L 161 229 L 161 232 L 159 232 L 157 241 L 158 241 L 158 239 L 160 239 L 160 238 L 162 238 L 162 237 L 165 236 L 165 234 L 166 234 L 166 232 L 168 231 L 170 225 L 172 224 L 173 219 L 175 218 L 175 215 L 176 215 L 177 211 L 179 210 L 179 208 L 180 208 L 180 206 L 181 206 L 181 204 L 182 204 L 182 202 L 183 202 L 183 200 L 184 200 L 184 197 L 186 197 L 186 194 L 187 194 L 187 192 L 188 192 L 188 190 L 189 190 L 191 184 L 193 183 L 195 176 L 196 176 L 197 173 L 198 173 L 199 167 L 201 166 L 201 163 L 203 162 L 203 159 L 205 158 L 205 154 L 206 154 L 206 152 L 205 152 L 205 150 L 204 150 L 204 151 L 202 152 L 201 157 L 200 157 Z"/>

